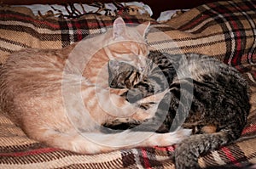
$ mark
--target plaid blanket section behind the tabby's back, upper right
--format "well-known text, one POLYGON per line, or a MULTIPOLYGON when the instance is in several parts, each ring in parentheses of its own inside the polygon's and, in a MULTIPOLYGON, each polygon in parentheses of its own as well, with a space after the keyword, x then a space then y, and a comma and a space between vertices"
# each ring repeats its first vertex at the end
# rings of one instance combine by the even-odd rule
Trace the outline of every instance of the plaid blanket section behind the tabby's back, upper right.
POLYGON ((166 27, 155 26, 171 40, 156 39, 160 33, 154 32, 148 43, 171 54, 211 55, 241 72, 252 73, 255 83, 255 8, 256 3, 248 0, 201 5, 168 21, 166 27))

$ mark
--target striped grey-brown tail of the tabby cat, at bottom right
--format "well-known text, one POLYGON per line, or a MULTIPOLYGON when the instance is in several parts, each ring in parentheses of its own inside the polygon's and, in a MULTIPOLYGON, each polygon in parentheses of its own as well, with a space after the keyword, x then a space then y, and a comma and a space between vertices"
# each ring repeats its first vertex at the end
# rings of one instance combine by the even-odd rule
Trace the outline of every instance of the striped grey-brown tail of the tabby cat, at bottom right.
POLYGON ((174 152, 177 169, 197 169, 198 158, 210 150, 218 149, 225 144, 230 144, 241 135, 241 130, 223 129, 219 132, 192 135, 185 138, 177 145, 174 152), (233 131, 232 131, 233 130, 233 131))

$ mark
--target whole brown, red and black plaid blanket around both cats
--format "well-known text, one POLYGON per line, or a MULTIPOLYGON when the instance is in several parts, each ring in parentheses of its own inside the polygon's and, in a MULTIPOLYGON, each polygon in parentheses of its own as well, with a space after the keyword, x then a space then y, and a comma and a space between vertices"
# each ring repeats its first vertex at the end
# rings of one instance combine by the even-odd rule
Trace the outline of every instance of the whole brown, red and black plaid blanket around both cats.
MULTIPOLYGON (((202 155, 202 168, 241 168, 256 164, 256 2, 235 0, 193 8, 166 24, 145 16, 122 15, 128 23, 153 22, 148 44, 157 50, 212 55, 241 70, 251 84, 252 109, 241 138, 202 155)), ((63 48, 102 32, 114 17, 88 14, 77 19, 38 19, 27 8, 0 8, 0 63, 21 48, 63 48)), ((169 147, 124 149, 79 155, 27 138, 0 113, 0 168, 174 168, 169 147)))

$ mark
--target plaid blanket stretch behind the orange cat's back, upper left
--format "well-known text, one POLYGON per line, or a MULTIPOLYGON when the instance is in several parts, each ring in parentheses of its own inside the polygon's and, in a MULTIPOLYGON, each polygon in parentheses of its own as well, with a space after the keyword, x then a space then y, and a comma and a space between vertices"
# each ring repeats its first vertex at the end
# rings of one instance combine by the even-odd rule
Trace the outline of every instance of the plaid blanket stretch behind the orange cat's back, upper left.
MULTIPOLYGON (((126 23, 154 21, 143 16, 120 14, 126 23)), ((38 19, 20 7, 0 7, 0 63, 8 54, 22 48, 64 48, 84 37, 105 31, 113 25, 114 16, 84 14, 73 20, 61 18, 38 19), (23 12, 25 11, 25 12, 23 12)))

